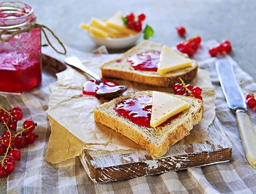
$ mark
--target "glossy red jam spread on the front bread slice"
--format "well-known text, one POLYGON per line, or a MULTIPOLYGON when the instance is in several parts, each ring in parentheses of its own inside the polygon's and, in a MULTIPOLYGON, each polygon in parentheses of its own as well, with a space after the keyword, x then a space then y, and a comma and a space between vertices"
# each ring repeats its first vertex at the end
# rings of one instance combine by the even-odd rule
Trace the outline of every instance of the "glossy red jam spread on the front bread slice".
MULTIPOLYGON (((119 116, 128 119, 140 127, 151 128, 152 96, 150 95, 124 99, 116 104, 114 110, 119 116)), ((159 127, 165 126, 165 124, 177 118, 181 113, 170 117, 168 120, 161 123, 159 127)))

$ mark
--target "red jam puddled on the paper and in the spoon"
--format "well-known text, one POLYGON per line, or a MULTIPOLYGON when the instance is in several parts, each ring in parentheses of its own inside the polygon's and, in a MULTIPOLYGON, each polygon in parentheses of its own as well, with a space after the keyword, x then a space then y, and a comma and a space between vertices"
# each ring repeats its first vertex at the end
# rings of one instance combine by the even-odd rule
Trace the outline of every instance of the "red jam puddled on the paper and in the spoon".
MULTIPOLYGON (((85 95, 95 95, 97 98, 100 96, 97 95, 97 91, 100 90, 100 93, 108 93, 116 91, 118 84, 116 82, 109 81, 102 78, 103 83, 99 84, 95 80, 89 80, 84 83, 83 94, 85 95)), ((101 98, 100 98, 101 99, 101 98)))

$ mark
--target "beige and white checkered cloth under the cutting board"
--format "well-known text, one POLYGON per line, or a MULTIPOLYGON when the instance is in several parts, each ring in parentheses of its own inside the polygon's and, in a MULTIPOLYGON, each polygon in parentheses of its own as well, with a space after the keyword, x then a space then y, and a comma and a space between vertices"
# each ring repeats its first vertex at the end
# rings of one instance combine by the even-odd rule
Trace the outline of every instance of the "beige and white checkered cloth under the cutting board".
MULTIPOLYGON (((43 83, 22 95, 0 95, 1 104, 20 106, 26 118, 38 123, 39 135, 35 144, 21 149, 21 161, 9 175, 8 193, 256 193, 256 170, 247 163, 235 121, 228 109, 215 71, 215 58, 210 58, 207 48, 216 44, 207 41, 196 55, 200 68, 210 72, 217 92, 216 115, 230 137, 233 151, 231 162, 214 164, 200 168, 166 172, 160 175, 139 177, 112 183, 93 183, 87 176, 79 158, 59 163, 45 162, 45 153, 51 133, 45 110, 48 108, 49 84, 56 81, 54 71, 43 72, 43 83)), ((232 60, 232 59, 231 59, 232 60)), ((256 92, 256 84, 246 72, 232 61, 238 80, 251 92, 256 92), (252 91, 253 90, 253 91, 252 91)), ((58 67, 51 67, 52 70, 58 67)), ((256 114, 248 114, 256 128, 256 114)), ((256 140, 255 140, 256 141, 256 140)))

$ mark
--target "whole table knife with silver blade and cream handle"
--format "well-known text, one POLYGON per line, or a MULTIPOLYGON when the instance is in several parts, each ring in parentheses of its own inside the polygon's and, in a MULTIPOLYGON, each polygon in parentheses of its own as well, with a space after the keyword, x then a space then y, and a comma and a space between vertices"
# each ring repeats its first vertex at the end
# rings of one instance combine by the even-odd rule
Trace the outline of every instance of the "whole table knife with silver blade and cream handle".
POLYGON ((228 107, 237 117, 242 147, 247 161, 256 169, 256 130, 247 114, 244 94, 242 94, 237 79, 235 79, 233 66, 228 59, 218 59, 216 70, 228 107))

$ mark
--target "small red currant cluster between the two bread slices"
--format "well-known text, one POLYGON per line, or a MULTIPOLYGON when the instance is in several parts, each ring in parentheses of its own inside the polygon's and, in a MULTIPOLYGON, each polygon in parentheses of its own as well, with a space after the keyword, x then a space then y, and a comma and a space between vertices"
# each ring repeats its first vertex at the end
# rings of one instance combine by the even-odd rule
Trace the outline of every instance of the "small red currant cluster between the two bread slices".
POLYGON ((193 86, 192 84, 185 84, 185 82, 180 78, 181 83, 176 83, 173 86, 173 92, 177 95, 185 95, 185 96, 194 96, 194 98, 198 98, 203 100, 201 93, 202 90, 198 86, 193 86))

